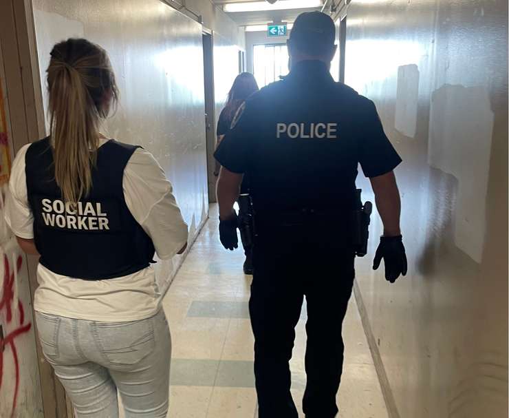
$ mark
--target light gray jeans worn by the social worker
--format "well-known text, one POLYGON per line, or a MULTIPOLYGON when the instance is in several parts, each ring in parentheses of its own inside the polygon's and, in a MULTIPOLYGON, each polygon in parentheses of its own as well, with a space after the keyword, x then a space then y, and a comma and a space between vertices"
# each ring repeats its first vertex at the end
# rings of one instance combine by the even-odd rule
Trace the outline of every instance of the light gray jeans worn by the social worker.
POLYGON ((43 353, 72 401, 76 418, 164 418, 171 338, 161 309, 134 322, 74 320, 36 312, 43 353))

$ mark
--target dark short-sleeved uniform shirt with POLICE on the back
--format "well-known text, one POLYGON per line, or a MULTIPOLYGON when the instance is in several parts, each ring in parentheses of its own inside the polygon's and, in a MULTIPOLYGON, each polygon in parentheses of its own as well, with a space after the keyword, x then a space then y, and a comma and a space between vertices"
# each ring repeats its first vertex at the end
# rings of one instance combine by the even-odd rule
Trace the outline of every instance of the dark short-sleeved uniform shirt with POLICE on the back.
POLYGON ((241 107, 215 158, 247 173, 257 213, 349 211, 360 163, 367 177, 401 158, 372 101, 336 83, 321 61, 301 61, 241 107))

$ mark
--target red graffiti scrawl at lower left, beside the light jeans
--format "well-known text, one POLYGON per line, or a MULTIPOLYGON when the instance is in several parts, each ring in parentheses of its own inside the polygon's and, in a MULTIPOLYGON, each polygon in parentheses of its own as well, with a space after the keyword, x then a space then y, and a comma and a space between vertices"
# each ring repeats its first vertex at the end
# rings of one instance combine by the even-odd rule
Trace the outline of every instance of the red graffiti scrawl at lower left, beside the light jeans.
MULTIPOLYGON (((20 255, 16 260, 16 271, 11 271, 9 259, 7 258, 7 255, 3 255, 3 286, 2 297, 0 299, 0 313, 2 311, 5 313, 7 324, 12 322, 12 304, 15 303, 14 280, 16 280, 16 273, 19 273, 22 264, 23 259, 20 255)), ((28 333, 30 328, 32 328, 32 324, 30 322, 25 324, 25 309, 23 309, 23 304, 21 301, 17 302, 19 311, 19 326, 5 336, 0 334, 0 390, 2 388, 3 380, 3 353, 6 347, 10 347, 10 350, 12 351, 12 359, 14 360, 14 397, 12 399, 11 417, 14 417, 14 410, 16 409, 19 391, 19 358, 16 338, 24 333, 28 333)))

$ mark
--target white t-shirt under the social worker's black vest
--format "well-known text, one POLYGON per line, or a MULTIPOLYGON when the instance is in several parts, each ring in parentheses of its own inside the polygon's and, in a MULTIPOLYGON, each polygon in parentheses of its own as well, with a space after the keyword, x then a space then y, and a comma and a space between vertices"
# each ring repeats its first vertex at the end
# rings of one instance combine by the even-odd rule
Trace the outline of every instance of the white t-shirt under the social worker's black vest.
MULTIPOLYGON (((101 140, 101 145, 107 140, 101 140)), ((25 154, 21 148, 12 165, 5 218, 12 232, 34 238, 34 216, 28 203, 25 154)), ((171 183, 152 154, 138 148, 124 170, 124 197, 129 211, 151 237, 162 260, 172 258, 187 242, 187 224, 182 218, 171 183)), ((63 254, 65 257, 65 254, 63 254)), ((37 268, 39 287, 34 309, 42 313, 82 320, 123 322, 151 317, 160 309, 161 294, 153 267, 109 280, 80 280, 37 268)))

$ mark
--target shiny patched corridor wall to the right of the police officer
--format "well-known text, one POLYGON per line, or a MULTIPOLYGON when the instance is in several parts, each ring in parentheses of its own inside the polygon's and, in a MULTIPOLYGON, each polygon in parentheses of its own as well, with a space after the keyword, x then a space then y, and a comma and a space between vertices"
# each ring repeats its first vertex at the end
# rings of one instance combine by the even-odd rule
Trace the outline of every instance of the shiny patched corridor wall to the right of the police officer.
MULTIPOLYGON (((409 275, 357 262, 391 417, 507 417, 508 3, 362 1, 345 82, 375 101, 404 163, 409 275)), ((364 198, 372 199, 365 180, 364 198)))

